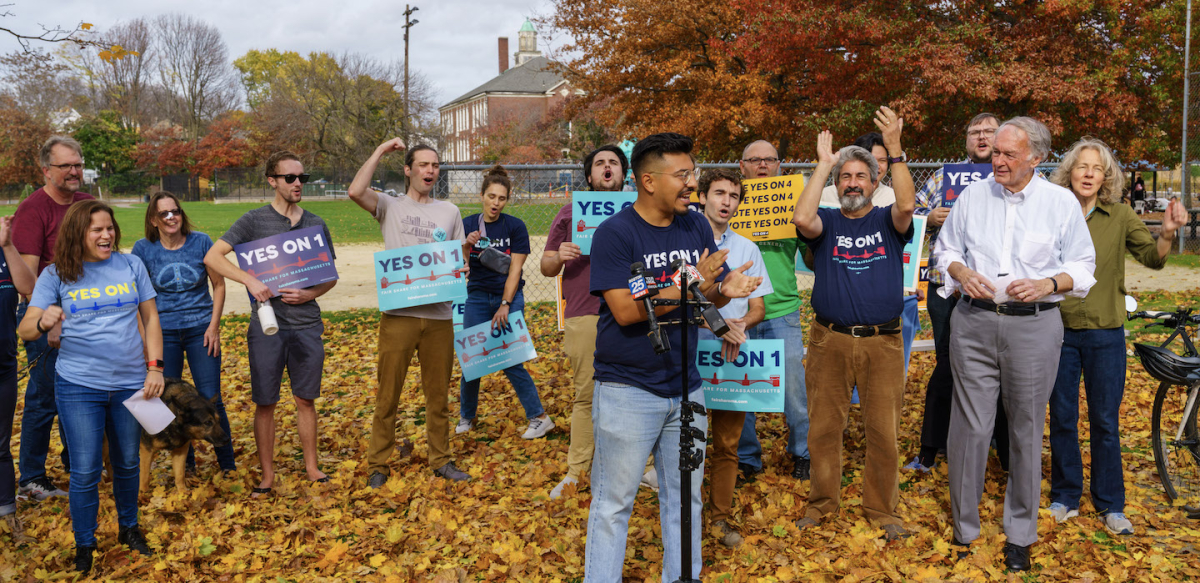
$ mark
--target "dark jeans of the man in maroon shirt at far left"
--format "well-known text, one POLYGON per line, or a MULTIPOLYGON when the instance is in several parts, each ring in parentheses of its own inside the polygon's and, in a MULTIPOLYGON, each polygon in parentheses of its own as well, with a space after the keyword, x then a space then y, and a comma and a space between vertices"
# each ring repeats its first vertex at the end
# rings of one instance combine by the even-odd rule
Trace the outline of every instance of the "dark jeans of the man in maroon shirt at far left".
MULTIPOLYGON (((17 306, 17 321, 25 318, 28 303, 17 306)), ((34 342, 25 343, 25 359, 37 361, 29 369, 29 384, 25 385, 25 409, 20 417, 20 452, 17 468, 20 470, 20 485, 25 486, 38 477, 46 477, 46 457, 50 453, 50 431, 59 408, 54 403, 54 365, 59 360, 59 349, 50 348, 47 335, 34 342)), ((62 469, 71 471, 71 447, 66 433, 59 422, 59 437, 62 439, 62 469)))

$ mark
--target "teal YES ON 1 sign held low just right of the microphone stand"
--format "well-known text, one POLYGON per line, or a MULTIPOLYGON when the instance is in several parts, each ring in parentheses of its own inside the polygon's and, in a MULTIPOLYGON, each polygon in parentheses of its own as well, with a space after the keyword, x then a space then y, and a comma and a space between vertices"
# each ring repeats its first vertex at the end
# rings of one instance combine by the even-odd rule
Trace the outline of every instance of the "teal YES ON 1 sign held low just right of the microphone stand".
POLYGON ((730 362, 721 356, 721 341, 702 339, 696 368, 709 409, 784 413, 784 341, 746 341, 730 362))

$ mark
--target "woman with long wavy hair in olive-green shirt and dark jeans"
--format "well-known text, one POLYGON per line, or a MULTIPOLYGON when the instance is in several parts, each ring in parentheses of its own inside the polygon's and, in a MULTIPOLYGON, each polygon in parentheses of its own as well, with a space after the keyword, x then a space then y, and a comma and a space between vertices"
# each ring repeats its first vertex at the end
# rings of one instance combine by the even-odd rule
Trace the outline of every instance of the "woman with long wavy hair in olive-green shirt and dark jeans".
POLYGON ((1079 453, 1079 377, 1087 391, 1092 446, 1092 505, 1112 534, 1133 534, 1124 516, 1121 463, 1121 399, 1124 395, 1126 252, 1142 265, 1163 269, 1175 232, 1187 222, 1176 202, 1163 216, 1158 241, 1122 204, 1124 180, 1112 152, 1100 140, 1076 142, 1050 176, 1079 199, 1096 247, 1096 286, 1087 297, 1062 302, 1064 333, 1058 378, 1050 393, 1050 513, 1057 522, 1079 516, 1084 463, 1079 453))

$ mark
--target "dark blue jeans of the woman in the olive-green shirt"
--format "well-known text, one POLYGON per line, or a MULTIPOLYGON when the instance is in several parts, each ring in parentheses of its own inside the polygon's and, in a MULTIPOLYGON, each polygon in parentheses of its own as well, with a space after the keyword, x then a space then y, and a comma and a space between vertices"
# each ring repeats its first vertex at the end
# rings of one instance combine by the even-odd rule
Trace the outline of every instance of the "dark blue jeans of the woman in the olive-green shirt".
POLYGON ((1121 327, 1063 331, 1058 378, 1050 393, 1050 501, 1078 509, 1084 493, 1084 462, 1079 455, 1080 372, 1092 429, 1092 504, 1102 516, 1124 512, 1121 398, 1126 345, 1121 327))

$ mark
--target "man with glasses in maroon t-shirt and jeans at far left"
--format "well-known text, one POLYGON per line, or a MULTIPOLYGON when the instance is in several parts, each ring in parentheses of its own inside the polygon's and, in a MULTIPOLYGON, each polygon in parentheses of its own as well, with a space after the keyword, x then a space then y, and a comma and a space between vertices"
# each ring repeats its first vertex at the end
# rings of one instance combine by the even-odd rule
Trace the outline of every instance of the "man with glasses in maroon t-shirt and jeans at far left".
MULTIPOLYGON (((29 269, 41 275, 54 263, 54 242, 59 238, 59 226, 67 209, 78 200, 92 198, 85 192, 76 192, 83 181, 83 150, 79 143, 65 137, 52 136, 38 152, 46 186, 38 188, 17 206, 12 222, 12 241, 29 269)), ((25 317, 28 301, 17 307, 17 321, 25 317)), ((18 494, 35 500, 66 495, 46 475, 46 457, 50 451, 50 429, 58 407, 54 404, 54 365, 59 356, 61 324, 50 333, 25 343, 25 357, 34 362, 25 387, 25 410, 20 421, 20 488, 18 494)), ((59 425, 61 433, 62 426, 59 425)), ((67 440, 62 439, 62 470, 71 471, 67 440)))

